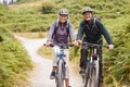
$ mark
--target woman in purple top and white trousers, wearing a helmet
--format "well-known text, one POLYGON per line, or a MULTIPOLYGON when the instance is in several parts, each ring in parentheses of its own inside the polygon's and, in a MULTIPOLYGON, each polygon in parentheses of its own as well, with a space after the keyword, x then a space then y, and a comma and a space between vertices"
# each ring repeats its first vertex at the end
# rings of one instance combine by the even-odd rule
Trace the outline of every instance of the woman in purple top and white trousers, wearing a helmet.
MULTIPOLYGON (((55 78, 55 71, 56 71, 56 62, 57 62, 57 53, 60 51, 58 44, 68 44, 69 41, 69 36, 72 37, 73 44, 77 46, 75 33, 74 33, 74 27, 73 25, 68 22, 68 11, 66 9, 61 9, 58 12, 58 21, 54 22, 51 27, 50 32, 47 38, 47 44, 46 46, 50 46, 50 44, 54 44, 55 46, 53 47, 54 49, 54 58, 53 58, 53 67, 52 67, 52 73, 50 78, 53 79, 55 78)), ((66 76, 65 76, 65 84, 66 87, 69 86, 69 51, 68 48, 64 50, 65 52, 65 62, 66 62, 66 76)))

